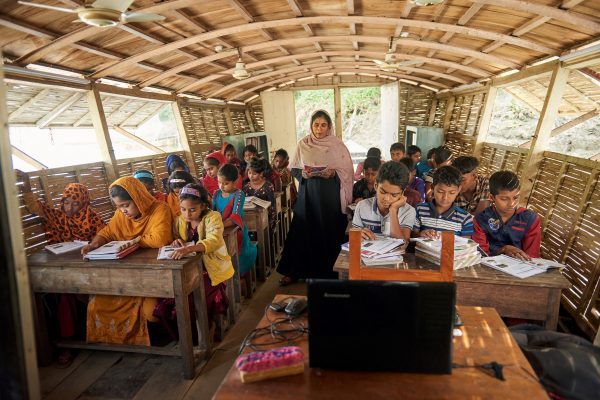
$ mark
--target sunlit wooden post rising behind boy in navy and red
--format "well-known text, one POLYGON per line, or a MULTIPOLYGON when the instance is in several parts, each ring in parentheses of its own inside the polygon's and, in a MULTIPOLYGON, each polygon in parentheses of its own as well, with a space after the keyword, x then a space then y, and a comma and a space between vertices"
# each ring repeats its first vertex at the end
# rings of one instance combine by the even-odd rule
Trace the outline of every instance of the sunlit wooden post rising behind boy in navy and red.
POLYGON ((535 134, 531 140, 531 147, 527 154, 527 164, 523 169, 523 182, 521 183, 521 198, 523 199, 528 199, 531 194, 539 163, 544 156, 544 150, 548 145, 552 129, 554 128, 554 121, 558 115, 558 106, 562 100, 569 72, 570 70, 563 68, 560 63, 552 71, 546 100, 540 113, 540 120, 538 121, 535 134))

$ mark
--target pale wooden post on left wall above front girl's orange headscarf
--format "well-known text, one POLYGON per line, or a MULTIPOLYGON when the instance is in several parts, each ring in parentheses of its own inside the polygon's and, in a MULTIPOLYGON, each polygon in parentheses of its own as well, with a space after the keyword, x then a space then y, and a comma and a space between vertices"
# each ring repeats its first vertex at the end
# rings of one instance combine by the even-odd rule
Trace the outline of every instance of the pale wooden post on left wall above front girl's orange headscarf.
POLYGON ((100 148, 100 154, 102 155, 102 161, 104 162, 106 177, 109 182, 113 182, 118 178, 117 159, 115 157, 115 149, 112 146, 112 140, 110 139, 108 124, 106 123, 106 117, 104 115, 104 107, 102 106, 102 99, 100 98, 100 91, 95 84, 92 84, 91 90, 87 92, 87 102, 90 108, 92 125, 96 132, 98 147, 100 148))

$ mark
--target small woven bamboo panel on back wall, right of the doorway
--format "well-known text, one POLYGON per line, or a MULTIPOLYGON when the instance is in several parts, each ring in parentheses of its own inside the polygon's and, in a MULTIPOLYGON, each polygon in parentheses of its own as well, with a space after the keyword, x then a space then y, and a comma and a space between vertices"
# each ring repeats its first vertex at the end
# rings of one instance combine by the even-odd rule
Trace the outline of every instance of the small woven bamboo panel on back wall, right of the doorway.
POLYGON ((407 126, 427 126, 429 123, 429 111, 434 94, 429 90, 400 84, 398 96, 398 141, 404 143, 407 126))

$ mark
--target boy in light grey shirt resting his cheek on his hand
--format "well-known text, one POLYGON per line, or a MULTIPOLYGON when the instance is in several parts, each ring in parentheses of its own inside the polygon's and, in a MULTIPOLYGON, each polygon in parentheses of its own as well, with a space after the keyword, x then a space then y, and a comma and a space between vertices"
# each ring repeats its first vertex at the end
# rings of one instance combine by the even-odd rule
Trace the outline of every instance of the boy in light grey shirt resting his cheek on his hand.
POLYGON ((415 223, 415 209, 406 203, 403 191, 408 185, 408 169, 388 161, 377 173, 377 194, 356 205, 352 226, 362 228, 363 239, 375 234, 404 239, 405 247, 415 223))

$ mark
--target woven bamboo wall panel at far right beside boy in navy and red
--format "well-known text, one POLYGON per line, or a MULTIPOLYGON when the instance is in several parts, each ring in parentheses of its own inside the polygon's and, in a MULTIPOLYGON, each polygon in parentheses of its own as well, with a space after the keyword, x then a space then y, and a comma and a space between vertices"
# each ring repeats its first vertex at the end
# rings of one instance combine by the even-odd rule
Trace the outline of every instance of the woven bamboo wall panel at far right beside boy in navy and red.
POLYGON ((598 330, 600 185, 598 163, 546 152, 529 207, 543 221, 542 257, 563 262, 572 287, 562 303, 593 337, 598 330))

